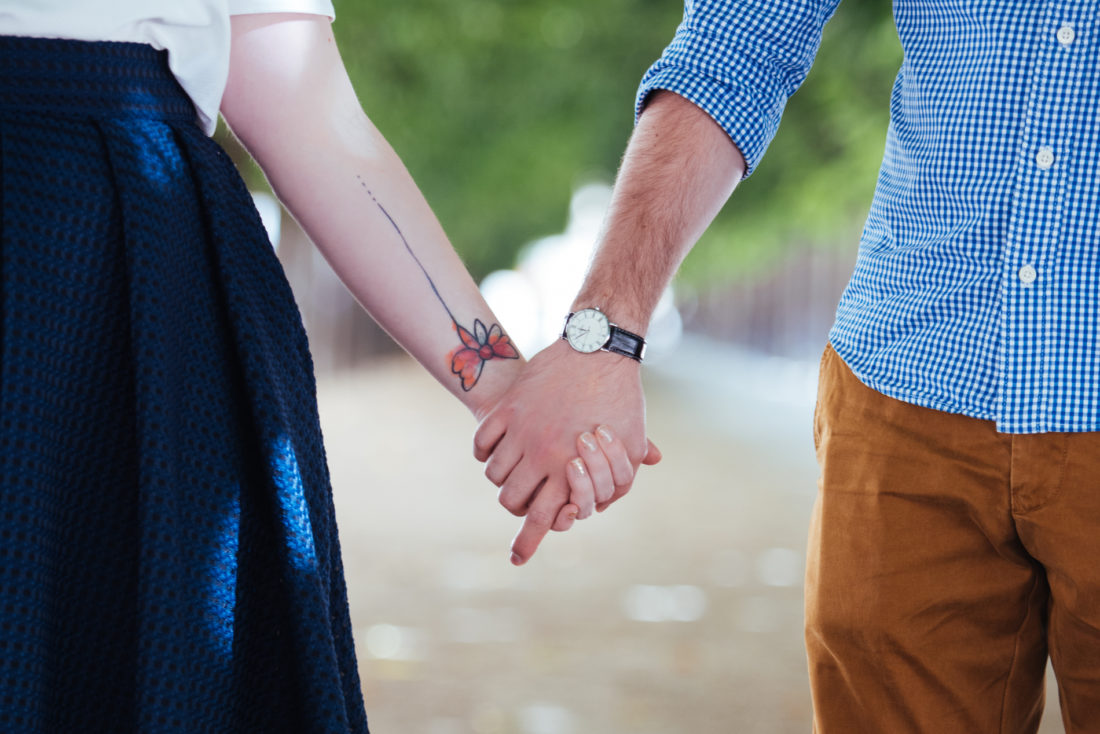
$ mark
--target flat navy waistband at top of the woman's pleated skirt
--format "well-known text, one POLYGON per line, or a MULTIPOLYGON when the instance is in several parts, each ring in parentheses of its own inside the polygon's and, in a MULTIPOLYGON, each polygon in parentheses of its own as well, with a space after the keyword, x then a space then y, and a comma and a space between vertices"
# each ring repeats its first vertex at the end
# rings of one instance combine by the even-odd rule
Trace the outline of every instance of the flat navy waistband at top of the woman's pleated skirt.
POLYGON ((168 54, 140 43, 0 36, 0 116, 196 120, 168 54))

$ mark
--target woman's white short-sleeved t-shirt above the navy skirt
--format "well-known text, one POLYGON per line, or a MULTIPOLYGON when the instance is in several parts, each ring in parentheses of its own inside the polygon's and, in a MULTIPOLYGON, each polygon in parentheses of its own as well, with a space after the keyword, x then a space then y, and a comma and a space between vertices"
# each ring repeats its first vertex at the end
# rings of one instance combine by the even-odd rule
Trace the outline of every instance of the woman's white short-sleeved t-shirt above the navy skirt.
POLYGON ((229 77, 229 17, 248 13, 336 14, 332 0, 3 0, 0 35, 167 50, 172 73, 212 133, 229 77))

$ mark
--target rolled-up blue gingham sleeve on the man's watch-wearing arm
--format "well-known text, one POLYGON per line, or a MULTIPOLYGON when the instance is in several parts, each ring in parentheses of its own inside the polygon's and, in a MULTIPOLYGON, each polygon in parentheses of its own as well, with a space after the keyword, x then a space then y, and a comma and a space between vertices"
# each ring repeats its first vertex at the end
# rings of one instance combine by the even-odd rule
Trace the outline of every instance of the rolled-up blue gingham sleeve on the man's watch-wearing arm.
POLYGON ((779 129, 788 98, 805 79, 839 0, 685 0, 672 43, 641 79, 714 118, 745 156, 748 176, 779 129))

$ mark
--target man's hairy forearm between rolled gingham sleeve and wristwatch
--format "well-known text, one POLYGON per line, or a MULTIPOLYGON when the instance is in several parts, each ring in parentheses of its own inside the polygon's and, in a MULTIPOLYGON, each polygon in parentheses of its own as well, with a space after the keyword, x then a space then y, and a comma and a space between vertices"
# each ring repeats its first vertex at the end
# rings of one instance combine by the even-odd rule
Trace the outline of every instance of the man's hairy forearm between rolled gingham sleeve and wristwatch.
POLYGON ((598 306, 645 333, 664 287, 744 173, 740 151, 710 116, 679 95, 656 92, 623 156, 574 307, 598 306))

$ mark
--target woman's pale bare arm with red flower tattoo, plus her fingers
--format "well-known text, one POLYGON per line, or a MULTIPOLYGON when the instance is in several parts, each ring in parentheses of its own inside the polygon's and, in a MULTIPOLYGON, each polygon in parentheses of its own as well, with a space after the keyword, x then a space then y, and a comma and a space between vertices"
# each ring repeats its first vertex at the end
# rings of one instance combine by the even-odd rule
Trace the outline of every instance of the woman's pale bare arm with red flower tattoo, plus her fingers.
MULTIPOLYGON (((524 360, 493 328, 499 321, 431 208, 363 112, 329 20, 234 15, 221 112, 371 316, 479 419, 490 414, 524 360)), ((572 446, 597 423, 586 420, 554 440, 572 446)), ((581 453, 588 471, 583 462, 571 464, 586 508, 591 497, 613 493, 610 463, 617 472, 629 467, 617 449, 606 448, 609 458, 581 453)), ((562 456, 558 473, 575 458, 575 450, 562 456)), ((561 503, 551 524, 566 529, 580 511, 561 503)))

